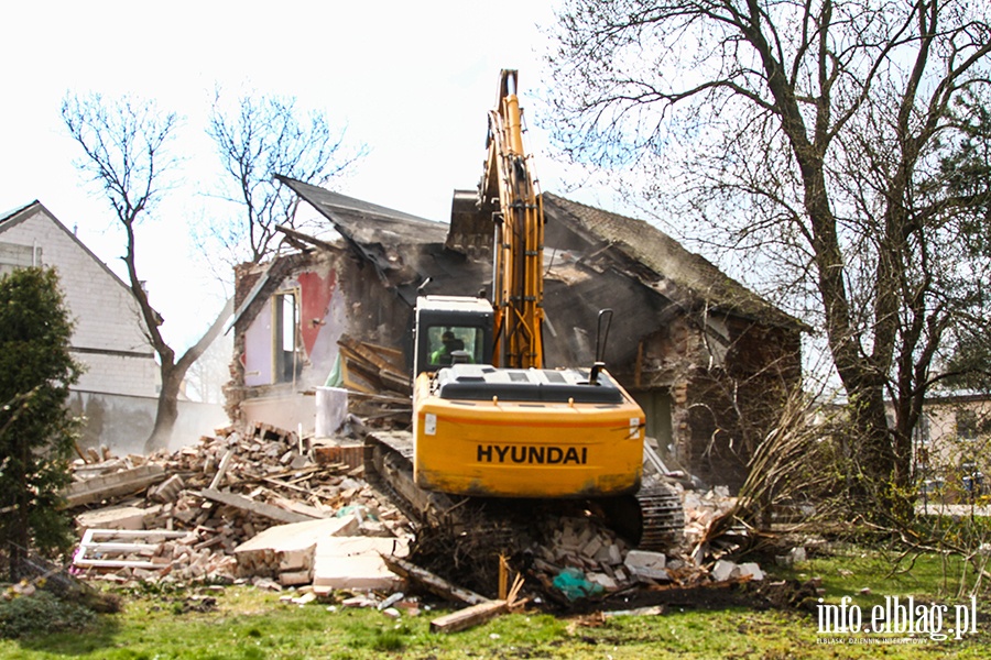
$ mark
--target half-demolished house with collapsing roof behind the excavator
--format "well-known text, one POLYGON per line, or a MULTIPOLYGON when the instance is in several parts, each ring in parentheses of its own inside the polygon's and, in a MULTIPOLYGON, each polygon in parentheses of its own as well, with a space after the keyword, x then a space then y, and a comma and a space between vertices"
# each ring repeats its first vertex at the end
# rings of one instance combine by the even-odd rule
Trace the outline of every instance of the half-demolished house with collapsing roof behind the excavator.
MULTIPOLYGON (((286 229, 295 252, 236 273, 231 419, 320 430, 318 399, 338 385, 409 414, 417 293, 484 294, 484 232, 282 180, 340 238, 286 229)), ((642 220, 547 193, 543 206, 547 365, 591 365, 612 309, 606 362, 668 469, 736 491, 798 383, 803 324, 642 220)))

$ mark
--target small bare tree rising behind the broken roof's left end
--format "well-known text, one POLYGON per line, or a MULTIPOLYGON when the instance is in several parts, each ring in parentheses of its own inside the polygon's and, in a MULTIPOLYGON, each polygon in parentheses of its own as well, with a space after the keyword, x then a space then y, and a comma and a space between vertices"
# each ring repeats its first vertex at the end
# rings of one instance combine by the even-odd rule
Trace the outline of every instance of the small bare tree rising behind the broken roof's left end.
POLYGON ((228 265, 258 263, 273 249, 276 224, 295 227, 298 197, 274 175, 323 186, 367 153, 364 145, 346 146, 346 130, 334 130, 323 113, 304 113, 294 98, 276 96, 241 96, 225 112, 218 90, 207 133, 229 175, 221 197, 241 209, 240 220, 211 229, 228 265))

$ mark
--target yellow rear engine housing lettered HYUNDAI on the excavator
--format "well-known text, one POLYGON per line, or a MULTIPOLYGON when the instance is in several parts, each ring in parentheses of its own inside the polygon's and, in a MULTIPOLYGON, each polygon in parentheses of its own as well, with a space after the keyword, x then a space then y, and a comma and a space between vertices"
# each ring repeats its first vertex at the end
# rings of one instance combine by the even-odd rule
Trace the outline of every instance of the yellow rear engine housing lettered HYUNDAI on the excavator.
POLYGON ((456 364, 422 374, 414 400, 414 480, 498 497, 609 497, 636 492, 640 407, 606 372, 456 364))

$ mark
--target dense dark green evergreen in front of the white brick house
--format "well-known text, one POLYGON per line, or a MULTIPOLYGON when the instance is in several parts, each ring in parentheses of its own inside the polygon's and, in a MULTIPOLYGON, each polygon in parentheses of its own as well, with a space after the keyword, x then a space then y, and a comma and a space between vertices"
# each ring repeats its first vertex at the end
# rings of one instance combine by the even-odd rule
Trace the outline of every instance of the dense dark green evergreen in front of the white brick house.
POLYGON ((78 428, 65 406, 81 373, 72 332, 53 268, 0 277, 0 542, 12 581, 29 548, 52 554, 72 541, 58 506, 78 428))

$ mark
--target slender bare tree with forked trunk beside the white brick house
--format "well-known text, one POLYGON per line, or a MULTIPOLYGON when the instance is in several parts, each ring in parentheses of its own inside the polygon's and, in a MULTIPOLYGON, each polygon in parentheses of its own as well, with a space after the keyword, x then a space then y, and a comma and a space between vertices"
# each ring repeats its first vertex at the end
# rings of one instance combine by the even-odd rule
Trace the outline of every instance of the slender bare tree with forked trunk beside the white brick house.
POLYGON ((203 337, 176 359, 175 350, 162 337, 162 315, 152 307, 139 276, 135 230, 161 201, 168 188, 168 172, 178 165, 168 148, 179 120, 150 101, 129 97, 111 101, 98 94, 66 96, 62 119, 85 154, 77 167, 102 188, 127 237, 122 258, 162 377, 155 426, 145 451, 161 449, 168 446, 178 418, 178 394, 186 372, 224 329, 232 309, 228 300, 203 337))

